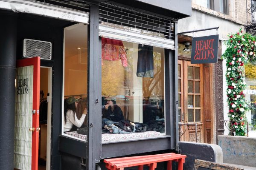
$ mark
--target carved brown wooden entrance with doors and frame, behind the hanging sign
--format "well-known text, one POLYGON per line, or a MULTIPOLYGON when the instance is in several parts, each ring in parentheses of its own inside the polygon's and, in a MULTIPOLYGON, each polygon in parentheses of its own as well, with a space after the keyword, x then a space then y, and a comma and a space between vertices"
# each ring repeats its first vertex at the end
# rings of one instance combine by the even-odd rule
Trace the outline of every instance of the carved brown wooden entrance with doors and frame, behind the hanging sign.
MULTIPOLYGON (((220 47, 220 45, 219 45, 220 47)), ((220 59, 221 47, 218 49, 220 59)), ((192 37, 178 37, 178 97, 180 140, 213 143, 215 121, 214 64, 191 64, 192 37)))

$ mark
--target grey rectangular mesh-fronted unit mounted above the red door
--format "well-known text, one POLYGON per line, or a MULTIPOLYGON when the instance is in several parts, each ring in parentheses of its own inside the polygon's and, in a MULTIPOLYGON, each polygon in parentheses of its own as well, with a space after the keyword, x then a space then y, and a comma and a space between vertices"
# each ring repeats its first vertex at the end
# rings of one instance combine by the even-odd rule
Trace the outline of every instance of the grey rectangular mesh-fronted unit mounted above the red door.
POLYGON ((52 43, 47 41, 24 39, 23 57, 40 57, 41 59, 52 59, 52 43))

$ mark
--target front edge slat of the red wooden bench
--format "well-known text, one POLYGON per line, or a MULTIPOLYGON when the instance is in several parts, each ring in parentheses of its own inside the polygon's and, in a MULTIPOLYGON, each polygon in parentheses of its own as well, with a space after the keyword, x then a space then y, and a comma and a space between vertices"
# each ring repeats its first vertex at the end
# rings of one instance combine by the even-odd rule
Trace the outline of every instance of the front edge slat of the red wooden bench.
MULTIPOLYGON (((134 167, 134 166, 139 166, 142 164, 152 164, 152 163, 157 163, 157 162, 162 162, 162 161, 170 161, 174 159, 185 159, 186 155, 172 155, 172 156, 166 156, 166 157, 161 157, 161 158, 154 158, 154 159, 146 159, 146 160, 131 160, 130 162, 125 162, 125 163, 117 163, 113 164, 114 167, 116 168, 121 168, 121 167, 134 167)), ((182 162, 183 163, 183 162, 182 162)))

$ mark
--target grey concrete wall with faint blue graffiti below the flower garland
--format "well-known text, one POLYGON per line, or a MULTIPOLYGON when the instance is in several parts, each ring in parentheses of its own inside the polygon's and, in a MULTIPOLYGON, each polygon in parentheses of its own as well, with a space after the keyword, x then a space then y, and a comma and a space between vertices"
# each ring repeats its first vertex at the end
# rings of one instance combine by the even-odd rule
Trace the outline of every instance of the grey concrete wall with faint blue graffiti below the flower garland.
POLYGON ((219 135, 218 145, 223 150, 224 163, 256 167, 256 138, 219 135))

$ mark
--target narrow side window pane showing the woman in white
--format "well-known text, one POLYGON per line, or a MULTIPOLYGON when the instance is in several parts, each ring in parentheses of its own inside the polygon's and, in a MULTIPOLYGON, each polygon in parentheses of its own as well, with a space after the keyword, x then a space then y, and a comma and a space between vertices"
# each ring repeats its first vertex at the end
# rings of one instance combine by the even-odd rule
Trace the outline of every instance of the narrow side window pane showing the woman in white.
MULTIPOLYGON (((87 134, 87 25, 64 29, 62 134, 87 134), (79 130, 80 129, 80 130, 79 130)), ((75 137, 76 136, 72 136, 75 137)))

